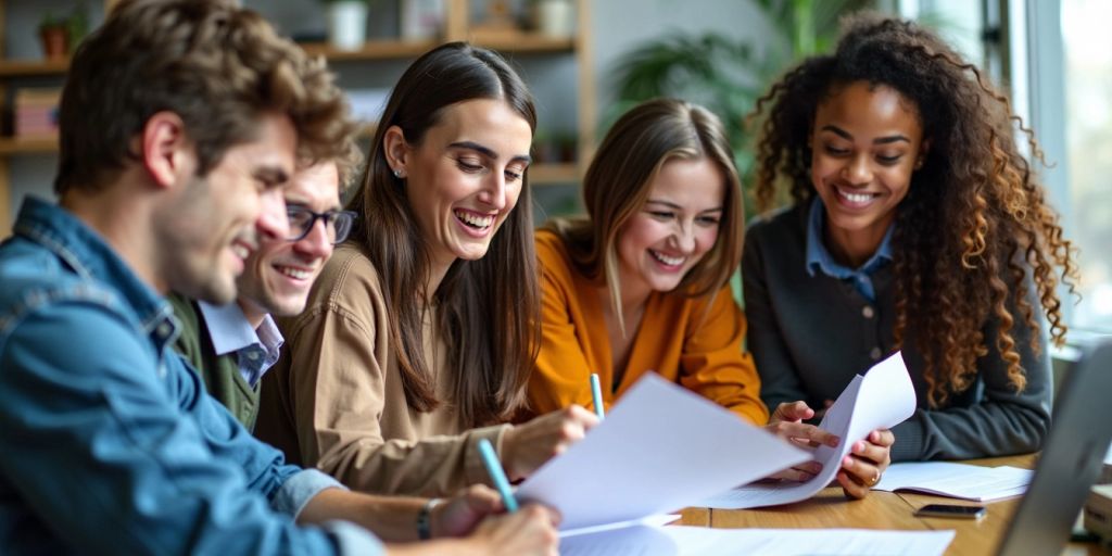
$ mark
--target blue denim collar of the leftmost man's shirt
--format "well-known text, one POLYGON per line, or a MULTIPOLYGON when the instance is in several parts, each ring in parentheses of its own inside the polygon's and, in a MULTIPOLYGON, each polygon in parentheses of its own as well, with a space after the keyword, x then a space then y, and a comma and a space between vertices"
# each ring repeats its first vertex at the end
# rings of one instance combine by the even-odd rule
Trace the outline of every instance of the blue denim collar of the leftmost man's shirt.
POLYGON ((29 196, 13 231, 54 254, 81 278, 113 288, 138 316, 142 332, 152 336, 159 347, 178 337, 180 325, 170 304, 69 210, 29 196))

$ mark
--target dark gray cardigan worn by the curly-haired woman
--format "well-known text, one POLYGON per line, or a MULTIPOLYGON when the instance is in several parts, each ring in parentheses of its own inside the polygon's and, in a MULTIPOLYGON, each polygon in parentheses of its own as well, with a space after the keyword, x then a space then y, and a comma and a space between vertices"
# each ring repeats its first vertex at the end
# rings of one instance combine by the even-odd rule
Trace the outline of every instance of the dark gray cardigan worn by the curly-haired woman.
MULTIPOLYGON (((742 259, 747 346, 761 374, 761 397, 770 410, 784 401, 805 400, 822 408, 835 399, 857 373, 893 351, 895 320, 891 266, 873 275, 876 302, 854 287, 805 268, 807 208, 801 203, 757 220, 745 239, 742 259)), ((1029 280, 1030 280, 1029 272, 1029 280)), ((1027 302, 1040 307, 1033 282, 1027 302)), ((1010 307, 1013 315, 1016 308, 1010 307)), ((914 315, 910 320, 914 322, 914 315)), ((976 379, 967 390, 951 395, 946 406, 926 408, 923 359, 913 346, 903 354, 911 371, 919 409, 893 429, 892 459, 969 459, 1037 450, 1050 428, 1050 356, 1045 326, 1041 354, 1031 350, 1032 331, 1016 319, 1012 329, 1027 385, 1015 393, 1006 365, 996 350, 996 322, 983 331, 989 354, 976 363, 976 379)))

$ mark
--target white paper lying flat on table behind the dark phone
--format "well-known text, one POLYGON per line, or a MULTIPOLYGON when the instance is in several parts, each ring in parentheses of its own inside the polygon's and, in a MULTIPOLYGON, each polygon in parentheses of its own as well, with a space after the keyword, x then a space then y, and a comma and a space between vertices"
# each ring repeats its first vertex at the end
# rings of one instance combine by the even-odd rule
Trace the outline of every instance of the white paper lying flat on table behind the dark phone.
POLYGON ((992 502, 1025 493, 1034 474, 1031 469, 1006 465, 982 467, 949 461, 893 464, 873 490, 916 490, 965 500, 992 502))

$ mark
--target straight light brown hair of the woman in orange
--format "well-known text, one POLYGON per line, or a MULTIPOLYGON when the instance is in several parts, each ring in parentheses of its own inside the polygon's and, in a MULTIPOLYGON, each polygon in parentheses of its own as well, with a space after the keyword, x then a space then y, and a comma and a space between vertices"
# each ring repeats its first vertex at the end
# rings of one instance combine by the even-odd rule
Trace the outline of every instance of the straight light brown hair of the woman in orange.
POLYGON ((713 112, 676 99, 654 99, 622 116, 606 133, 583 181, 588 218, 554 219, 555 231, 589 278, 599 275, 610 291, 614 315, 625 332, 617 242, 625 224, 648 200, 653 180, 669 160, 706 158, 726 178, 722 224, 714 247, 676 287, 678 295, 714 295, 742 258, 745 215, 741 179, 722 121, 713 112))

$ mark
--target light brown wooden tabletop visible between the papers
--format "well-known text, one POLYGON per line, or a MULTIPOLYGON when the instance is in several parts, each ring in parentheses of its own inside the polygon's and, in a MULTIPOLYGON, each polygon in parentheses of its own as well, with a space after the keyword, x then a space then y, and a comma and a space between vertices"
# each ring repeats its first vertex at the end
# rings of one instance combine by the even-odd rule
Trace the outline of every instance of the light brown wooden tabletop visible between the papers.
MULTIPOLYGON (((1033 468, 1034 455, 965 461, 974 465, 1011 465, 1033 468)), ((862 529, 954 529, 956 535, 946 549, 949 556, 991 555, 996 548, 1012 514, 1021 498, 983 504, 987 515, 980 520, 915 517, 914 513, 927 504, 977 505, 939 496, 883 493, 874 490, 864 500, 850 500, 841 487, 823 489, 808 500, 786 506, 757 509, 686 508, 682 525, 738 528, 862 528, 862 529)), ((1091 543, 1070 543, 1063 556, 1112 556, 1112 550, 1091 543)))

